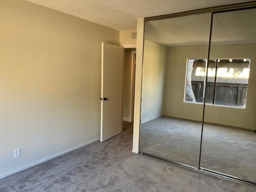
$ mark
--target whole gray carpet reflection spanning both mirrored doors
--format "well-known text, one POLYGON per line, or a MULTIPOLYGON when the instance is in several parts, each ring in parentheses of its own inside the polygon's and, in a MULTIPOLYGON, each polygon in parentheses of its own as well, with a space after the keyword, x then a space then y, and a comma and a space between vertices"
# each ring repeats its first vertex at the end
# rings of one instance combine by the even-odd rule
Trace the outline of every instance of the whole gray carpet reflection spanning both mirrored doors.
MULTIPOLYGON (((141 126, 140 150, 198 167, 200 122, 162 116, 141 126)), ((256 133, 204 124, 201 167, 256 183, 256 133)))

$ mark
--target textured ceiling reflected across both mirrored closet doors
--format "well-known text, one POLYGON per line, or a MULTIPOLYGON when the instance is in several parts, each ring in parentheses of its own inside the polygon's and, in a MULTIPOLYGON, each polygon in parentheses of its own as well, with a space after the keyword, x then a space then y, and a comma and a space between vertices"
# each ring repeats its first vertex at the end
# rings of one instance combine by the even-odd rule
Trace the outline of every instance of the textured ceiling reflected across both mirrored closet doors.
MULTIPOLYGON (((166 46, 207 45, 211 14, 145 23, 145 39, 166 46)), ((256 43, 256 9, 214 14, 211 44, 256 43)))

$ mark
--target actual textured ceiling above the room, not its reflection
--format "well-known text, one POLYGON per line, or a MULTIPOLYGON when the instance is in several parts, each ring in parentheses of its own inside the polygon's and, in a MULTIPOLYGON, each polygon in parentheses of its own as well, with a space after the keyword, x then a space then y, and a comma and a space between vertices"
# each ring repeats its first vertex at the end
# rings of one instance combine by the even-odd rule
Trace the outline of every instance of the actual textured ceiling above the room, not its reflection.
POLYGON ((117 30, 136 29, 136 18, 250 0, 26 0, 117 30))

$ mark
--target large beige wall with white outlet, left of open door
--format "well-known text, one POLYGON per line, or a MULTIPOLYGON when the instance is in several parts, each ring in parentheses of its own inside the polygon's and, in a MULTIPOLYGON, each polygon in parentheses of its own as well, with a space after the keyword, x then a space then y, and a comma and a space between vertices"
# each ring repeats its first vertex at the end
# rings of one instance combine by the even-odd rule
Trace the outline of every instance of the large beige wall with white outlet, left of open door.
POLYGON ((101 42, 119 31, 22 0, 1 0, 0 21, 4 177, 100 138, 101 42))

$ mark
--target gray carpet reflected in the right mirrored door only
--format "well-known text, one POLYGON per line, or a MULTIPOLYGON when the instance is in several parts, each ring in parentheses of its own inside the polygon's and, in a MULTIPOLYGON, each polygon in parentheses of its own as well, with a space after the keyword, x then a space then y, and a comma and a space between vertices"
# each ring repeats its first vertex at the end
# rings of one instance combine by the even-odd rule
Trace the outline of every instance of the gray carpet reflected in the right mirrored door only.
POLYGON ((201 167, 256 183, 256 133, 205 124, 201 167))

